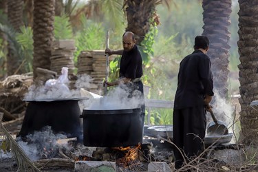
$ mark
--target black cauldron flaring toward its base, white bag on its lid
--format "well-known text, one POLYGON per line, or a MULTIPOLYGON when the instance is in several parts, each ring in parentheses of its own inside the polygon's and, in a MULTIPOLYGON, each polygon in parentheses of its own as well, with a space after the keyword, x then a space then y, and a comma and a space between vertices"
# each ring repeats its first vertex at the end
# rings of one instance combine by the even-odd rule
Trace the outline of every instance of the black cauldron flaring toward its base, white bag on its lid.
POLYGON ((30 101, 17 136, 25 137, 50 126, 54 133, 79 138, 83 133, 80 113, 78 100, 30 101))

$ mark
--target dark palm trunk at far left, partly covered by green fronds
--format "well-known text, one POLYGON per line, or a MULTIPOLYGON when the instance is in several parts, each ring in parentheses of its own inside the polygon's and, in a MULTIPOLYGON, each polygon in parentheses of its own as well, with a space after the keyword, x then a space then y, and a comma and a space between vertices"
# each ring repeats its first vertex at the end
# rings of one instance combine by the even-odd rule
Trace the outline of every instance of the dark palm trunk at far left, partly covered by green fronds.
MULTIPOLYGON (((8 0, 8 21, 15 31, 20 32, 20 27, 23 25, 23 0, 8 0)), ((23 59, 12 53, 12 48, 8 45, 7 74, 24 72, 24 67, 20 67, 22 61, 23 59)))

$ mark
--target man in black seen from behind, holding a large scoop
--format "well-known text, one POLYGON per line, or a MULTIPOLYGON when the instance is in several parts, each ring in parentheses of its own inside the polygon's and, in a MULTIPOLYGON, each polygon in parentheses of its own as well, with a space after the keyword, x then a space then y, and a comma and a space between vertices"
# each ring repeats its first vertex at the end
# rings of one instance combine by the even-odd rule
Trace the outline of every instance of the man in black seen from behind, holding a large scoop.
POLYGON ((208 45, 206 36, 196 36, 194 52, 180 63, 173 110, 175 169, 204 149, 206 111, 211 111, 209 103, 214 95, 208 45))

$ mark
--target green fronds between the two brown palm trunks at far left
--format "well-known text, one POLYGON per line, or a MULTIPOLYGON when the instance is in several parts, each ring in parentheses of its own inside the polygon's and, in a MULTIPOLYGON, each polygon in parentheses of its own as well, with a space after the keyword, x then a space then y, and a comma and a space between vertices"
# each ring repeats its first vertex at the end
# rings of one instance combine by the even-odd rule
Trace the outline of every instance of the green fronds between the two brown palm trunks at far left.
POLYGON ((33 60, 33 33, 30 27, 21 27, 21 33, 18 33, 16 38, 17 42, 21 45, 21 50, 24 54, 25 61, 24 66, 26 72, 32 71, 32 60, 33 60))

